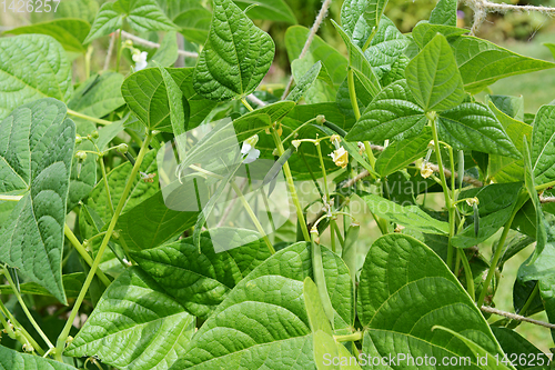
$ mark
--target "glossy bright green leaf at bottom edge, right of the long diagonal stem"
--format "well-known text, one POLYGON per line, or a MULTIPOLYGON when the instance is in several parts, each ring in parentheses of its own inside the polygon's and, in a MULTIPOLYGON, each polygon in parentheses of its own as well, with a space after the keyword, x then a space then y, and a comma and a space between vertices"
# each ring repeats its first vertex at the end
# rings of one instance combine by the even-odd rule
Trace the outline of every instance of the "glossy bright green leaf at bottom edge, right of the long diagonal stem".
POLYGON ((194 317, 138 267, 125 270, 64 351, 118 369, 169 369, 185 353, 194 317))

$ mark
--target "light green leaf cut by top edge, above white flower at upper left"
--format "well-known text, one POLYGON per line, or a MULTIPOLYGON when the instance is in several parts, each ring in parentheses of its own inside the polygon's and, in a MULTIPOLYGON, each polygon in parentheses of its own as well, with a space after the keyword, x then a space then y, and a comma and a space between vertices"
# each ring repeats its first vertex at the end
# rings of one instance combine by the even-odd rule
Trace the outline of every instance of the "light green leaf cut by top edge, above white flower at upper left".
POLYGON ((155 0, 117 0, 100 7, 84 43, 120 29, 124 19, 139 32, 175 29, 175 24, 165 17, 155 0))

